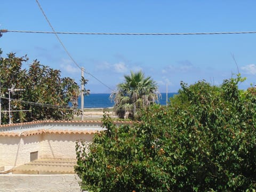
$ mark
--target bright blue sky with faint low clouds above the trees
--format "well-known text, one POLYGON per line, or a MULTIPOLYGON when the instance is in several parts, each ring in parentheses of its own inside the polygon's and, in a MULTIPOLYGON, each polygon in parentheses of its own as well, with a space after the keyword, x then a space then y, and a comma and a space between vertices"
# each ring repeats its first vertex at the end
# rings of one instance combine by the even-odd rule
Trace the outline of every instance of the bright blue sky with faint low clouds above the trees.
MULTIPOLYGON (((38 0, 55 31, 91 33, 206 33, 256 31, 256 1, 38 0)), ((0 29, 52 31, 35 0, 1 0, 0 29)), ((111 93, 124 75, 142 71, 160 92, 180 82, 221 85, 241 73, 240 89, 256 85, 256 34, 117 36, 60 34, 76 63, 85 68, 91 93, 111 93), (237 63, 237 65, 236 65, 237 63), (90 73, 91 75, 89 75, 90 73), (94 77, 96 78, 94 78, 94 77), (97 80, 99 79, 99 81, 97 80), (110 88, 110 89, 109 89, 110 88)), ((81 70, 54 34, 4 33, 2 57, 28 55, 79 82, 81 70)))

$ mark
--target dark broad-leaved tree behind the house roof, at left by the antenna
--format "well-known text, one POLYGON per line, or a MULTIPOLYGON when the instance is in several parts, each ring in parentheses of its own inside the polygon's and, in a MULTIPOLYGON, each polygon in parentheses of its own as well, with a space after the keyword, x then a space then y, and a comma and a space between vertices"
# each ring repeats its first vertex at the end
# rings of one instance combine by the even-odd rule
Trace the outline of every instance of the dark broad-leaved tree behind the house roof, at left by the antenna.
MULTIPOLYGON (((41 65, 34 60, 28 69, 22 68, 22 63, 28 58, 16 57, 15 53, 7 54, 7 58, 0 58, 1 76, 1 104, 2 110, 9 110, 9 100, 12 110, 12 122, 29 122, 42 119, 72 119, 75 110, 70 110, 68 105, 77 106, 79 86, 69 78, 61 78, 60 70, 55 70, 41 65), (24 91, 9 92, 8 89, 24 91), (41 105, 43 103, 43 105, 41 105)), ((87 84, 86 79, 82 83, 87 84)), ((87 91, 85 91, 87 93, 87 91)), ((9 113, 2 113, 2 124, 9 122, 9 113)))

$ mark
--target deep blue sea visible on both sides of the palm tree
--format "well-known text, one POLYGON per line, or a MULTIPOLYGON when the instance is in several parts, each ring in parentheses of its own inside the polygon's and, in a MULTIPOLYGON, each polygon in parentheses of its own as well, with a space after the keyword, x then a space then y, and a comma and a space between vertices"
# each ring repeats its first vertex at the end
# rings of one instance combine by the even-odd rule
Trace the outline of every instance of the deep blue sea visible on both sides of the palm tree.
MULTIPOLYGON (((167 98, 173 97, 177 93, 167 93, 167 98)), ((166 105, 166 93, 161 93, 162 97, 159 99, 161 105, 166 105)), ((84 97, 84 108, 109 108, 114 106, 114 102, 109 99, 108 93, 92 93, 84 97)), ((81 98, 78 98, 78 106, 81 107, 81 98)))

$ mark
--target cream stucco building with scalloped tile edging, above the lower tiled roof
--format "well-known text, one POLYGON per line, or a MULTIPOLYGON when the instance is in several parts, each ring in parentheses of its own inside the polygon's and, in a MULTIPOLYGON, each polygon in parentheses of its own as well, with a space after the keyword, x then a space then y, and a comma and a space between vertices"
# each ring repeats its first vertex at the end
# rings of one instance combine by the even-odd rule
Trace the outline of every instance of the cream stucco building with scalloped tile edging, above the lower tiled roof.
POLYGON ((0 126, 0 167, 40 158, 75 159, 75 142, 90 142, 101 121, 38 121, 0 126))

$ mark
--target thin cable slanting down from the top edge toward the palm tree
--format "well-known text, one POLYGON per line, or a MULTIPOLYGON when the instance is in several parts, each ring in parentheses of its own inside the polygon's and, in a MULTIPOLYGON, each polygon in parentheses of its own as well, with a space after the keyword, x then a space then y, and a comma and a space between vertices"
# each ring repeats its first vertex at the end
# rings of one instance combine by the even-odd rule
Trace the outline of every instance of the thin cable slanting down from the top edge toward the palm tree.
MULTIPOLYGON (((63 49, 66 51, 66 53, 68 54, 69 58, 75 63, 75 65, 82 70, 82 67, 80 67, 77 62, 74 60, 74 58, 71 56, 71 54, 68 52, 68 50, 66 49, 65 45, 62 43, 61 39, 58 36, 58 32, 55 32, 54 28, 51 25, 51 22, 49 21, 49 19, 47 18, 46 14, 44 13, 44 10, 42 8, 42 6, 39 4, 38 0, 36 0, 36 3, 38 4, 39 9, 42 11, 44 18, 46 19, 47 23, 49 24, 49 26, 52 28, 52 34, 55 34, 55 36, 57 37, 58 41, 60 42, 61 46, 63 47, 63 49)), ((1 30, 0 30, 1 31, 1 30)), ((7 30, 8 31, 8 30, 7 30)), ((10 31, 11 32, 11 31, 10 31)), ((113 91, 108 85, 106 85, 105 83, 103 83, 102 81, 100 81, 100 79, 98 79, 97 77, 95 77, 94 75, 92 75, 91 73, 84 71, 84 73, 92 76, 93 78, 95 78, 98 82, 100 82, 102 85, 105 85, 106 87, 108 87, 109 90, 113 91)))

